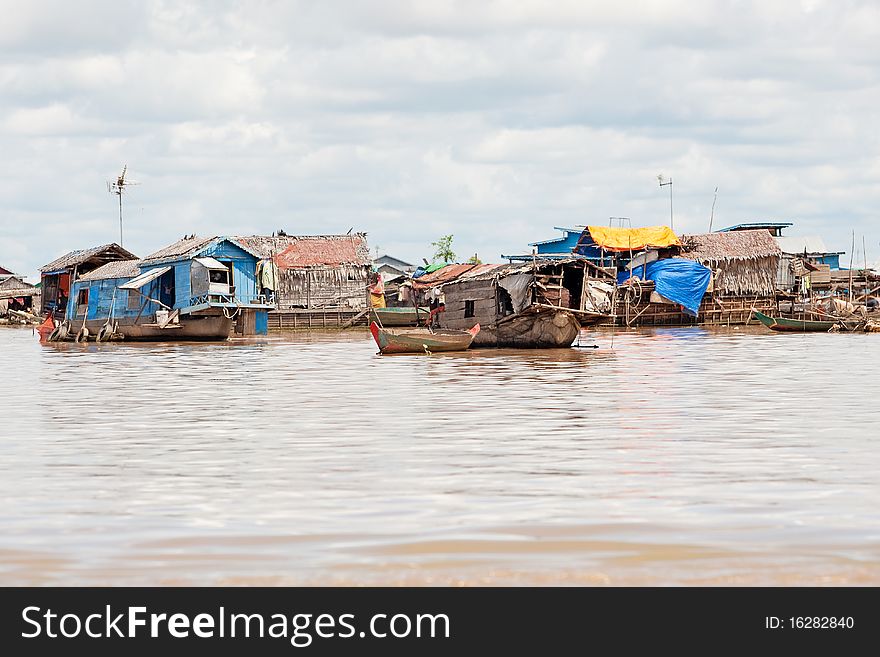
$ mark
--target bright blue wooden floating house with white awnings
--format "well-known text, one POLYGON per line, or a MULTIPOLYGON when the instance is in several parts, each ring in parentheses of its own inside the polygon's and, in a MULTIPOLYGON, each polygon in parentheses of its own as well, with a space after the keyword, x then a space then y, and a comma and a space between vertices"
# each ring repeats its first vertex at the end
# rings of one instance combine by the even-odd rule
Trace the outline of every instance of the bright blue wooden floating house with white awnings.
POLYGON ((109 262, 71 285, 55 337, 225 340, 267 332, 260 258, 230 237, 187 237, 143 260, 109 262))

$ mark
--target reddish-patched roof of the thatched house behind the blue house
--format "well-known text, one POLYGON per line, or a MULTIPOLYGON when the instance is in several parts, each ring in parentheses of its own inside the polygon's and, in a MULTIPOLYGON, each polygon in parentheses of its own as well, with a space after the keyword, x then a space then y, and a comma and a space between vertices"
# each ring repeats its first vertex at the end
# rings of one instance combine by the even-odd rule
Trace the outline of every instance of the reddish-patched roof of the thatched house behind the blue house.
POLYGON ((366 233, 351 235, 239 236, 260 258, 273 258, 280 269, 372 265, 366 233))

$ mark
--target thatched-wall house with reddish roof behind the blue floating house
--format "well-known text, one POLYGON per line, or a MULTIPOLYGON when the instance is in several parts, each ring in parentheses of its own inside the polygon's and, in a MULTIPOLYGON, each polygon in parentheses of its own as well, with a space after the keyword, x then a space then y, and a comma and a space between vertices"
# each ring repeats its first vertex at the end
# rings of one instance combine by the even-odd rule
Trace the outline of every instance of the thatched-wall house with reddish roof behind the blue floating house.
POLYGON ((373 269, 366 233, 237 237, 262 259, 274 262, 278 312, 364 310, 373 269))

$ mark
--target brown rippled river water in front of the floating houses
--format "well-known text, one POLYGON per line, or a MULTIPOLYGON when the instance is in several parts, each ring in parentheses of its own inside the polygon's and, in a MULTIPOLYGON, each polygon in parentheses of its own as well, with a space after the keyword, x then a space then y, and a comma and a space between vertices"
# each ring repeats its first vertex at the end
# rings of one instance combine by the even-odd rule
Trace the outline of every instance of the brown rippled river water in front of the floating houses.
POLYGON ((0 585, 880 584, 878 335, 0 329, 0 585))

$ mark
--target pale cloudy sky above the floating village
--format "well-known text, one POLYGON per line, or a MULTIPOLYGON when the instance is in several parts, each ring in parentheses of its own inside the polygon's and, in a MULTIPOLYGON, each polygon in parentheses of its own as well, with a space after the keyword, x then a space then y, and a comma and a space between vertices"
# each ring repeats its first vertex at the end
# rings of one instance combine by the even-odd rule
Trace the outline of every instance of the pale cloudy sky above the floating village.
POLYGON ((791 221, 880 259, 880 4, 0 0, 0 265, 368 233, 791 221), (718 188, 715 199, 715 188, 718 188))

